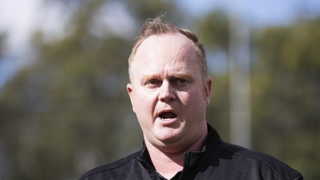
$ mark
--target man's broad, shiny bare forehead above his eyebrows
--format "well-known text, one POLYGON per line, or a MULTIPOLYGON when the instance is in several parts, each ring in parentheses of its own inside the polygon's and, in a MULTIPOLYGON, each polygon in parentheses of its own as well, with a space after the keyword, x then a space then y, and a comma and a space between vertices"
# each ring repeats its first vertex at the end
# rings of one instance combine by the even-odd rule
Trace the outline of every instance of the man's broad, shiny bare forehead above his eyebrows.
POLYGON ((179 33, 152 35, 141 43, 136 52, 134 63, 139 70, 137 72, 135 68, 134 74, 139 73, 141 68, 150 71, 193 71, 199 67, 197 59, 193 42, 188 37, 179 33))

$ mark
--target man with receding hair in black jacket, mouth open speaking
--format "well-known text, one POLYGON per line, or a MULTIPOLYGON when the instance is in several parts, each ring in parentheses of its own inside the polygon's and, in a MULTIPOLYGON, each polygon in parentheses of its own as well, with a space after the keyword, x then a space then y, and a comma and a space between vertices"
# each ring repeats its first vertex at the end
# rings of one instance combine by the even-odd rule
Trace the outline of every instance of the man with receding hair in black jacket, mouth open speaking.
POLYGON ((161 23, 161 16, 147 20, 128 63, 127 90, 144 146, 80 180, 303 179, 269 155, 223 142, 206 123, 211 78, 191 31, 161 23))

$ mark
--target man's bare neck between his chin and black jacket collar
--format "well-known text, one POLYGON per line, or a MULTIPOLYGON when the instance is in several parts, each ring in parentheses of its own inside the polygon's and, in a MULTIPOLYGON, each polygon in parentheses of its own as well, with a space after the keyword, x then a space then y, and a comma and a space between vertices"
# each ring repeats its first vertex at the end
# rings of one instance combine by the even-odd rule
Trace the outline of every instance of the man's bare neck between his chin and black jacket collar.
POLYGON ((208 132, 205 131, 191 146, 176 150, 174 152, 167 152, 153 146, 147 139, 145 139, 146 147, 149 151, 151 161, 158 173, 166 179, 171 179, 177 172, 181 171, 184 166, 184 153, 188 151, 199 151, 203 146, 203 142, 207 137, 208 132))

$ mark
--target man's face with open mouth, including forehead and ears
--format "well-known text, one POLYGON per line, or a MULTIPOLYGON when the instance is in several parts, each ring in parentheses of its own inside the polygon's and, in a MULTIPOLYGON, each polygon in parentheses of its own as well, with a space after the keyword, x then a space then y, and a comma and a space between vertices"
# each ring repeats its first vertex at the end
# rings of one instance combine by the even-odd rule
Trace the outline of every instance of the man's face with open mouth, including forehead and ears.
POLYGON ((203 79, 190 39, 179 33, 148 37, 133 68, 127 90, 145 141, 173 152, 206 133, 211 79, 203 79))

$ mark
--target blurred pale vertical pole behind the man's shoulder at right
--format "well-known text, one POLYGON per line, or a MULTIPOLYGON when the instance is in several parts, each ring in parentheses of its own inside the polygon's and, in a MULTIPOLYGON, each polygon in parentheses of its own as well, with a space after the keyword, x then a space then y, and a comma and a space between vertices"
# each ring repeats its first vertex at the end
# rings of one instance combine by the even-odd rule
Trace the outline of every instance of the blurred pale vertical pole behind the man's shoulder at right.
POLYGON ((228 2, 230 140, 251 148, 250 28, 244 1, 228 2))

